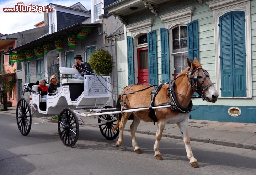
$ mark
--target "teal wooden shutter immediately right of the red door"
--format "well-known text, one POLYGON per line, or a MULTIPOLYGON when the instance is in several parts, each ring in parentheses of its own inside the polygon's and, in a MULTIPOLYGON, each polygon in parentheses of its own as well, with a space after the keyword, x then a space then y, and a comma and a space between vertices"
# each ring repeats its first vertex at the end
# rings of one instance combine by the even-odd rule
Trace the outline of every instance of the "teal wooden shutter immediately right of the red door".
POLYGON ((149 85, 158 84, 157 81, 157 55, 156 55, 156 31, 148 33, 148 63, 149 85))

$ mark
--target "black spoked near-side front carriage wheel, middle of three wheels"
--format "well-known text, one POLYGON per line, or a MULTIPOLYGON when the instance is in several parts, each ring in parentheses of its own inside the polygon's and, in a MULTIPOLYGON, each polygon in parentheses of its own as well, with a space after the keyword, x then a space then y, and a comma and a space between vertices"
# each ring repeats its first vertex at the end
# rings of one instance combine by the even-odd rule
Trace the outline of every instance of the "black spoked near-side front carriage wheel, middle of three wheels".
POLYGON ((65 146, 72 147, 75 145, 79 136, 79 123, 75 113, 71 109, 65 108, 60 112, 58 131, 60 140, 65 146))

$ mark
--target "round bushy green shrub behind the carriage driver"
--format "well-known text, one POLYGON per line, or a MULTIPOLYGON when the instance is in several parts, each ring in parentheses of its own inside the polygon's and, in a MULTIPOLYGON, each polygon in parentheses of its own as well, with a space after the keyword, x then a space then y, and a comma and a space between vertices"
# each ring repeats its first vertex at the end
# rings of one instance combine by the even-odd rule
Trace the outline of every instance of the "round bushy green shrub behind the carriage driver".
POLYGON ((108 75, 112 71, 111 55, 102 48, 91 54, 88 63, 95 74, 108 75))

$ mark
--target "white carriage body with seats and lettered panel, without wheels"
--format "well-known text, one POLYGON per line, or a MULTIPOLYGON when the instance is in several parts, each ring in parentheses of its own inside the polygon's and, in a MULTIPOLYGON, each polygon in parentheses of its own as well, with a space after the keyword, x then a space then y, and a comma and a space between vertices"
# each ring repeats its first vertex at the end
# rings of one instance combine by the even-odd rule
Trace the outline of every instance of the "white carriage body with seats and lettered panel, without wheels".
MULTIPOLYGON (((75 68, 59 67, 60 74, 76 74, 75 68)), ((32 86, 36 92, 39 85, 32 86)), ((53 96, 41 98, 31 92, 32 104, 37 105, 40 114, 59 114, 64 108, 102 108, 106 106, 110 92, 110 76, 85 75, 84 80, 62 79, 62 84, 53 96), (42 107, 43 106, 43 107, 42 107)))

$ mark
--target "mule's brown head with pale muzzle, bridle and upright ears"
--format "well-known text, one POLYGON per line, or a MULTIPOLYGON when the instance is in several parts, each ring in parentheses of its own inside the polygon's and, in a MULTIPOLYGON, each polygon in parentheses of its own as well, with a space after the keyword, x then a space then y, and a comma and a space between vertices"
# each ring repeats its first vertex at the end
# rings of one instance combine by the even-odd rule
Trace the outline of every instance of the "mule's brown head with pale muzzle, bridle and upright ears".
POLYGON ((187 75, 192 90, 201 95, 203 100, 215 103, 219 94, 210 80, 209 73, 202 68, 196 57, 194 58, 194 63, 187 58, 187 64, 190 68, 187 75))

